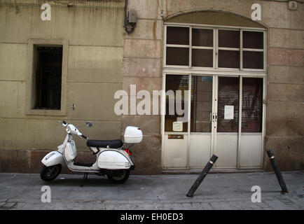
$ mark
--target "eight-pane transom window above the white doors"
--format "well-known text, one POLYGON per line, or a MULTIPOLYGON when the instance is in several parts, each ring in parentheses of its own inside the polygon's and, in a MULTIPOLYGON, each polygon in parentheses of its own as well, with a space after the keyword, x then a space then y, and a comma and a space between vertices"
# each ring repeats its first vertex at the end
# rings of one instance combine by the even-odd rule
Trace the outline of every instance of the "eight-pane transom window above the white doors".
POLYGON ((265 31, 165 25, 164 66, 265 71, 265 31))

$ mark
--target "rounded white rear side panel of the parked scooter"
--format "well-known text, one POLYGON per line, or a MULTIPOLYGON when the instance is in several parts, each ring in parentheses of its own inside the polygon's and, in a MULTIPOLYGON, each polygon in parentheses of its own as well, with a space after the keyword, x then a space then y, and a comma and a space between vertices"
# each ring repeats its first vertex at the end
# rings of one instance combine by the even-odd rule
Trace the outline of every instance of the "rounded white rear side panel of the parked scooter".
POLYGON ((129 169, 130 162, 117 151, 106 150, 99 154, 97 165, 100 169, 129 169))

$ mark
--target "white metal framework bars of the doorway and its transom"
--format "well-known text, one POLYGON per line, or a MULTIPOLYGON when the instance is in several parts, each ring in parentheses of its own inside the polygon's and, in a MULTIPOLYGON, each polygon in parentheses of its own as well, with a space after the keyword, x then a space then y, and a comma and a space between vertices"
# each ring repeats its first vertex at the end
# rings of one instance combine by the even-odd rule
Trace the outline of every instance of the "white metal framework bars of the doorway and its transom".
MULTIPOLYGON (((242 31, 240 31, 240 58, 242 58, 242 31)), ((161 100, 161 135, 162 135, 162 148, 161 148, 161 161, 162 167, 164 168, 164 151, 165 151, 165 81, 166 75, 188 75, 189 76, 189 90, 191 90, 191 78, 192 76, 213 76, 213 101, 212 101, 212 110, 217 113, 217 102, 214 104, 214 99, 217 101, 217 90, 218 90, 218 79, 219 76, 228 76, 228 77, 239 77, 240 78, 240 101, 239 101, 239 132, 237 139, 237 169, 240 169, 240 137, 241 137, 241 127, 242 127, 242 78, 263 78, 263 100, 267 97, 266 86, 267 86, 267 35, 268 30, 263 28, 254 28, 254 27, 235 27, 235 26, 221 26, 221 25, 200 25, 200 24, 185 24, 185 23, 174 23, 174 22, 164 22, 163 24, 163 94, 161 100), (167 39, 167 26, 173 27, 189 27, 189 41, 191 41, 191 29, 192 28, 200 28, 200 29, 214 29, 214 65, 212 68, 205 67, 192 67, 191 66, 191 49, 192 45, 186 45, 189 47, 189 66, 170 66, 166 65, 166 39, 167 39), (240 69, 223 69, 218 68, 216 66, 216 57, 218 57, 216 52, 218 49, 218 31, 219 29, 240 29, 242 31, 261 31, 263 32, 263 69, 243 69, 242 68, 242 59, 240 59, 240 69), (215 98, 216 97, 216 98, 215 98)), ((191 99, 191 92, 189 91, 188 99, 191 99)), ((261 168, 263 168, 263 160, 264 160, 264 139, 265 139, 265 118, 266 118, 266 105, 263 103, 262 106, 263 116, 262 116, 262 147, 261 147, 261 168)), ((187 143, 187 166, 186 169, 189 169, 189 147, 190 147, 190 125, 191 125, 191 100, 188 104, 188 143, 187 143)), ((214 122, 215 128, 212 128, 212 153, 214 153, 214 149, 216 148, 216 132, 217 132, 217 121, 214 122)), ((216 167, 216 166, 214 166, 216 167)))

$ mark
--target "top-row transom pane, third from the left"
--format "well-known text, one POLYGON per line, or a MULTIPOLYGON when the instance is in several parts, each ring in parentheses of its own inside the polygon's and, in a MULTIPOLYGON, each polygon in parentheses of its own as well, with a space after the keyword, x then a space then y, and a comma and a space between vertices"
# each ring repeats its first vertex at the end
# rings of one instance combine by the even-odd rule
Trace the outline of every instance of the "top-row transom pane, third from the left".
POLYGON ((240 48, 240 31, 219 30, 220 48, 240 48))

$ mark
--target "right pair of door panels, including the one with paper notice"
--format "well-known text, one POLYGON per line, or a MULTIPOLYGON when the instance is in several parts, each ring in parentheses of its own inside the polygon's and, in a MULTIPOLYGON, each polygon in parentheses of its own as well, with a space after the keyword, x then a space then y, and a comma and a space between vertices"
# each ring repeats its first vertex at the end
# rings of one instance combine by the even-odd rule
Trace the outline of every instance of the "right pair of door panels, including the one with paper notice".
POLYGON ((214 168, 261 168, 263 78, 218 77, 216 94, 214 168))

